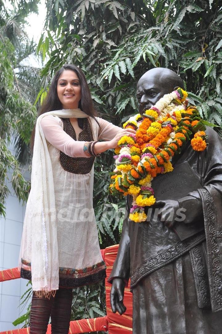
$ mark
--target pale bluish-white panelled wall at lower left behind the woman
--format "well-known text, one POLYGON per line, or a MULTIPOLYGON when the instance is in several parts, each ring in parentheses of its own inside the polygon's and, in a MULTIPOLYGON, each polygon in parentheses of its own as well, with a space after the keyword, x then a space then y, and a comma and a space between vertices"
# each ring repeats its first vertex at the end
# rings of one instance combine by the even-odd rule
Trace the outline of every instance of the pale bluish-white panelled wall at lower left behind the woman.
MULTIPOLYGON (((11 151, 13 152, 13 148, 11 151)), ((11 179, 11 175, 8 173, 9 179, 11 179)), ((26 173, 25 178, 30 178, 28 173, 26 173)), ((8 187, 11 195, 6 202, 6 218, 0 218, 0 270, 18 266, 25 214, 25 206, 19 203, 10 183, 8 183, 8 187)), ((24 279, 15 279, 0 283, 0 331, 22 327, 22 325, 15 327, 12 322, 26 313, 26 309, 22 310, 23 306, 19 306, 19 304, 20 297, 28 289, 27 282, 24 279)))

